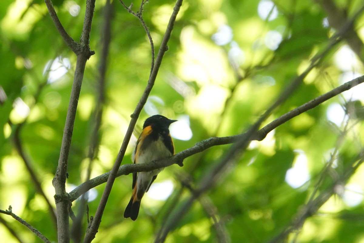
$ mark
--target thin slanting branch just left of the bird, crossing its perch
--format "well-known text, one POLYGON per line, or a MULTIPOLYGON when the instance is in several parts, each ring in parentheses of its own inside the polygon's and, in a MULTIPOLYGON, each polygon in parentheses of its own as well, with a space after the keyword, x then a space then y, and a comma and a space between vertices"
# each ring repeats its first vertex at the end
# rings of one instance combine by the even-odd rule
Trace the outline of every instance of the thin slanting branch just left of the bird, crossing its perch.
POLYGON ((114 166, 112 167, 112 170, 110 172, 110 176, 108 177, 105 190, 103 192, 103 195, 102 195, 100 203, 99 203, 99 207, 97 208, 96 213, 95 213, 94 220, 92 221, 91 225, 89 225, 89 227, 87 228, 86 236, 85 236, 84 241, 83 241, 84 243, 91 242, 92 239, 95 238, 96 232, 98 231, 98 228, 99 228, 100 223, 101 223, 101 217, 102 217, 102 214, 104 212, 108 196, 110 195, 112 185, 114 184, 114 181, 115 181, 119 166, 120 166, 120 164, 121 164, 121 162, 123 160, 123 157, 124 157, 128 142, 130 140, 131 134, 133 132, 134 126, 137 123, 137 119, 139 117, 139 114, 140 114, 143 106, 145 105, 145 103, 147 101, 147 98, 148 98, 148 96, 150 94, 150 91, 152 90, 152 88, 154 86, 155 78, 157 77, 159 67, 161 66, 161 63, 162 63, 163 56, 164 56, 165 52, 168 50, 167 43, 168 43, 169 38, 171 36, 171 32, 173 30, 173 26, 174 26, 177 14, 178 14, 179 9, 181 8, 181 5, 182 5, 182 1, 183 0, 177 0, 175 6, 173 8, 173 13, 172 13, 172 15, 170 17, 170 20, 169 20, 169 23, 167 25, 167 30, 165 32, 165 35, 163 36, 161 47, 159 48, 157 59, 155 61, 155 65, 153 67, 153 70, 151 71, 149 81, 147 83, 147 87, 145 88, 145 91, 144 91, 141 99, 139 100, 138 105, 135 107, 134 113, 131 115, 130 124, 128 126, 127 131, 126 131, 123 143, 122 143, 122 145, 120 147, 118 156, 116 157, 114 166))

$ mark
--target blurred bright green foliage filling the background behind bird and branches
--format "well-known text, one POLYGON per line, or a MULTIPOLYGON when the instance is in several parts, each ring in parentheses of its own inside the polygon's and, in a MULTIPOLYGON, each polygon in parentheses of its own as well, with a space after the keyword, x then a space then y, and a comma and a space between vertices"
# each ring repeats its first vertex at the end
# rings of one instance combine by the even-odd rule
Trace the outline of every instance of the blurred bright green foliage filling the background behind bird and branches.
MULTIPOLYGON (((79 40, 86 1, 52 2, 70 36, 79 40)), ((79 98, 68 163, 68 191, 86 179, 93 110, 98 102, 105 2, 96 1, 92 21, 90 46, 95 55, 87 62, 79 98)), ((349 16, 361 7, 360 2, 334 1, 349 16)), ((277 0, 274 3, 276 5, 270 0, 185 0, 135 136, 143 121, 155 112, 180 119, 185 126, 176 123, 172 133, 178 153, 211 136, 242 133, 255 122, 292 79, 308 67, 310 58, 328 45, 335 32, 326 24, 327 12, 317 1, 277 0), (186 137, 189 129, 191 138, 178 139, 182 135, 186 137)), ((131 1, 126 0, 125 4, 129 6, 131 1)), ((133 2, 132 9, 138 11, 139 4, 133 2)), ((174 2, 165 0, 145 4, 143 18, 156 52, 173 6, 174 2)), ((150 44, 141 23, 119 1, 112 1, 112 7, 106 101, 91 177, 111 169, 130 114, 150 73, 150 44)), ((360 37, 364 33, 363 23, 361 15, 354 24, 360 37)), ((21 124, 24 152, 54 205, 52 178, 58 164, 76 57, 56 31, 41 0, 2 2, 0 56, 0 91, 6 94, 5 99, 0 92, 0 209, 12 205, 14 213, 51 242, 56 242, 49 209, 36 192, 13 138, 21 124), (56 59, 61 63, 57 65, 56 59)), ((360 58, 345 42, 340 42, 263 125, 361 73, 360 58), (340 56, 337 50, 346 51, 346 56, 340 56)), ((363 94, 361 86, 354 88, 359 94, 363 94)), ((206 193, 231 242, 273 239, 292 222, 315 188, 318 193, 323 192, 348 168, 363 145, 364 134, 360 133, 363 131, 363 101, 362 95, 340 95, 282 124, 265 140, 250 144, 244 156, 206 193), (352 101, 346 103, 350 97, 352 101), (345 112, 350 114, 349 120, 344 118, 345 112), (320 171, 335 148, 338 152, 330 173, 325 174, 323 183, 316 187, 322 177, 320 171), (289 175, 296 179, 297 186, 288 183, 289 175)), ((123 164, 131 163, 135 140, 133 137, 123 164)), ((181 179, 189 178, 194 186, 229 147, 213 147, 186 158, 182 168, 175 165, 166 168, 155 183, 170 181, 173 192, 166 200, 153 199, 147 193, 135 222, 123 217, 131 195, 131 175, 117 178, 93 242, 152 242, 170 207, 179 208, 190 195, 189 190, 182 187, 181 179)), ((363 242, 363 176, 361 166, 349 179, 347 187, 344 183, 343 193, 332 196, 289 239, 363 242), (350 192, 354 192, 353 197, 350 192)), ((94 215, 103 189, 104 185, 93 189, 95 199, 88 203, 90 215, 94 215)), ((79 201, 73 202, 75 213, 78 213, 78 204, 79 201)), ((8 227, 24 242, 41 242, 11 217, 0 217, 7 222, 7 227, 0 225, 3 242, 17 242, 8 227)), ((86 222, 83 230, 86 230, 86 222)), ((166 240, 217 241, 213 220, 199 201, 180 219, 166 240)))

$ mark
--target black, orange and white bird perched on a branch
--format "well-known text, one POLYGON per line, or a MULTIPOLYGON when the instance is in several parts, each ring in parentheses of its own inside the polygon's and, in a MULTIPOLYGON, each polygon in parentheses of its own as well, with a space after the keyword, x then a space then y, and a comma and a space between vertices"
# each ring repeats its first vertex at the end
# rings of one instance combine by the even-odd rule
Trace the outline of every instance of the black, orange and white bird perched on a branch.
MULTIPOLYGON (((149 163, 174 155, 174 144, 169 133, 169 126, 176 121, 168 119, 163 115, 153 115, 145 120, 143 131, 131 155, 131 160, 134 164, 149 163)), ((149 190, 158 173, 163 169, 132 173, 133 192, 124 212, 125 218, 130 217, 134 221, 137 219, 142 197, 149 190)))

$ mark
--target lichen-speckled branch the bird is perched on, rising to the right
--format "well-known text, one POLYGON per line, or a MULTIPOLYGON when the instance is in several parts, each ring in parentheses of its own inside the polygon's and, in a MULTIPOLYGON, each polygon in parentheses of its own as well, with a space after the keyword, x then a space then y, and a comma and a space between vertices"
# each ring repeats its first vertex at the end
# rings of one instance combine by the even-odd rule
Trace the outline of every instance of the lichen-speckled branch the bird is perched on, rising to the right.
MULTIPOLYGON (((336 89, 333 89, 329 91, 326 94, 323 94, 304 105, 301 105, 297 107, 296 109, 293 109, 289 111, 288 113, 282 115, 281 117, 275 119, 274 121, 270 122, 268 125, 266 125, 264 128, 258 130, 255 134, 252 140, 263 140, 266 135, 271 132, 273 129, 277 128, 278 126, 284 124, 286 121, 289 121, 293 117, 296 117, 299 114, 302 114, 310 109, 313 109, 314 107, 320 105, 321 103, 327 101, 328 99, 334 97, 337 94, 340 94, 346 90, 351 89, 352 87, 355 87, 356 85, 359 85, 364 82, 364 76, 361 76, 359 78, 353 79, 352 81, 349 81, 347 83, 344 83, 343 85, 337 87, 336 89)), ((167 167, 173 164, 179 164, 187 157, 190 157, 193 154, 202 152, 203 150, 206 150, 208 148, 211 148, 212 146, 217 145, 224 145, 224 144, 232 144, 234 142, 237 142, 239 139, 242 139, 246 137, 246 133, 229 136, 229 137, 211 137, 207 138, 206 140, 202 140, 200 142, 197 142, 194 146, 192 146, 189 149, 183 150, 182 152, 179 152, 178 154, 175 154, 174 156, 162 159, 158 161, 153 161, 148 164, 126 164, 120 166, 118 169, 118 172, 116 176, 121 175, 128 175, 133 172, 142 172, 142 171, 152 171, 154 169, 159 169, 162 167, 167 167)), ((76 187, 73 191, 69 193, 71 201, 76 200, 79 196, 81 196, 83 193, 87 192, 91 188, 94 188, 100 184, 103 184, 107 181, 109 175, 111 172, 104 173, 103 175, 97 176, 94 179, 91 179, 87 183, 83 183, 76 187)))

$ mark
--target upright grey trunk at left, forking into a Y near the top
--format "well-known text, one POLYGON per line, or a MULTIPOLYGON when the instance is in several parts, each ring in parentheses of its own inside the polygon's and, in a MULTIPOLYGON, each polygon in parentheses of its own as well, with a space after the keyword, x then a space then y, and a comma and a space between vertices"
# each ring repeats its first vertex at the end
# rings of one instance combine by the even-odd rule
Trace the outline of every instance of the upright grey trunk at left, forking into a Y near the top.
POLYGON ((64 125, 62 145, 59 155, 58 167, 56 174, 53 178, 53 186, 55 188, 55 201, 56 201, 56 212, 57 212, 57 232, 58 232, 58 243, 69 243, 70 242, 70 230, 69 230, 69 211, 71 207, 71 201, 66 192, 66 179, 68 177, 68 155, 70 153, 70 146, 72 140, 73 127, 75 123, 76 110, 78 105, 78 98, 81 91, 81 85, 83 80, 83 74, 87 60, 91 55, 94 54, 90 50, 88 43, 90 42, 90 31, 92 17, 94 16, 95 0, 86 1, 86 11, 81 35, 81 42, 76 45, 69 44, 71 38, 68 38, 68 34, 60 24, 60 21, 54 11, 50 0, 45 0, 50 15, 60 32, 60 35, 66 41, 68 46, 77 55, 77 62, 75 68, 74 81, 72 84, 70 103, 68 105, 66 123, 64 125), (67 36, 65 35, 67 34, 67 36))

